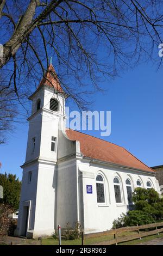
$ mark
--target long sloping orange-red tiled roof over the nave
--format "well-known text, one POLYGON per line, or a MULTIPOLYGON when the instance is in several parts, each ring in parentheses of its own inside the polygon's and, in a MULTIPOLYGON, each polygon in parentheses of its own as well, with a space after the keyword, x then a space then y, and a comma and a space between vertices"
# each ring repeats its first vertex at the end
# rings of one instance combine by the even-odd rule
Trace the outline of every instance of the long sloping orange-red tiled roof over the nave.
POLYGON ((85 157, 155 173, 129 151, 116 144, 70 129, 66 133, 72 141, 80 142, 80 151, 85 157))

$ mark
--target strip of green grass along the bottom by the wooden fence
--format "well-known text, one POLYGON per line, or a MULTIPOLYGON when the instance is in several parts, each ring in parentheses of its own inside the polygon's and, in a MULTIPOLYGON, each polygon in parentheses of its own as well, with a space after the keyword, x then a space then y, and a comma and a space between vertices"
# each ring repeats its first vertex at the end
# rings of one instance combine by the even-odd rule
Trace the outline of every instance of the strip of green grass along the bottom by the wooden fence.
MULTIPOLYGON (((128 236, 128 235, 133 235, 136 232, 124 232, 120 236, 128 236)), ((159 237, 163 237, 163 233, 158 235, 151 235, 151 236, 146 236, 142 238, 142 240, 136 239, 133 241, 129 242, 123 242, 123 243, 118 243, 118 245, 138 245, 139 243, 147 242, 159 237)), ((100 237, 94 237, 94 238, 87 238, 84 240, 84 245, 96 245, 99 242, 104 242, 113 239, 114 236, 109 235, 109 236, 100 236, 100 237)), ((42 238, 42 245, 58 245, 58 240, 54 240, 52 236, 42 238)), ((61 240, 61 245, 82 245, 82 240, 81 239, 75 239, 75 240, 61 240)))

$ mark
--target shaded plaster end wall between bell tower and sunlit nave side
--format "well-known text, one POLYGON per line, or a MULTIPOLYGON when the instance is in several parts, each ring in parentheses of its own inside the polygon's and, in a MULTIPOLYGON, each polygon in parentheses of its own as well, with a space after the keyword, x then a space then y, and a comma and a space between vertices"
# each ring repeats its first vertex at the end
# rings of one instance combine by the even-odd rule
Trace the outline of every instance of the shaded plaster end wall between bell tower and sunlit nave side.
POLYGON ((77 165, 76 160, 58 164, 57 179, 57 225, 64 228, 78 220, 77 165))

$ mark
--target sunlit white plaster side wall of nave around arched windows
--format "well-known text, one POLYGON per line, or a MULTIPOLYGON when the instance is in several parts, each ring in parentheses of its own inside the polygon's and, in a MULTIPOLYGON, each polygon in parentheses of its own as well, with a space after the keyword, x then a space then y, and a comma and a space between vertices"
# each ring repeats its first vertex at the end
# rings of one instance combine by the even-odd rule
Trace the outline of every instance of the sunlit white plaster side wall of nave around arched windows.
MULTIPOLYGON (((126 179, 132 182, 133 189, 136 187, 137 179, 142 181, 146 188, 146 182, 151 181, 153 188, 157 190, 154 175, 137 170, 120 169, 117 167, 104 167, 102 165, 78 161, 79 170, 83 173, 83 204, 84 204, 84 229, 85 233, 109 230, 112 228, 112 222, 120 217, 122 212, 127 211, 127 190, 126 179), (96 176, 101 173, 105 181, 105 204, 97 203, 96 195, 96 176), (118 176, 121 180, 122 203, 116 204, 114 192, 114 177, 118 176), (86 193, 86 185, 92 185, 92 194, 86 193)), ((80 202, 82 203, 82 202, 80 202)))

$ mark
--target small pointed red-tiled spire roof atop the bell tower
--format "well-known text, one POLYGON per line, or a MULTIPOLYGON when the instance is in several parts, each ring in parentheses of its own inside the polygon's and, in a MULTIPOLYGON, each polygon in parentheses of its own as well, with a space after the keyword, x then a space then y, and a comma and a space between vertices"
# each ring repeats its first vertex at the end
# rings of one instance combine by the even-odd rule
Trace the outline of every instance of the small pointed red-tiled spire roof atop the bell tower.
POLYGON ((42 87, 44 84, 46 84, 46 86, 54 88, 57 92, 64 93, 52 64, 49 64, 45 77, 42 78, 37 89, 42 87))

